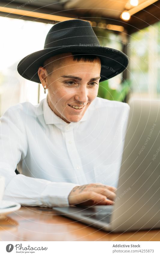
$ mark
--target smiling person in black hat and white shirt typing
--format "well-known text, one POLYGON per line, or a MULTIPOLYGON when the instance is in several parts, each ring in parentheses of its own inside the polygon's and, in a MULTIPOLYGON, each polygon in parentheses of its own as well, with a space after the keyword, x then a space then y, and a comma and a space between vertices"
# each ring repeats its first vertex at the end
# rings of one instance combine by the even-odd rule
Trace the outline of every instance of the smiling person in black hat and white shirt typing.
POLYGON ((99 81, 127 66, 128 57, 100 46, 82 20, 55 24, 44 49, 19 62, 19 74, 48 93, 36 106, 17 104, 1 117, 4 200, 40 207, 114 203, 129 106, 97 95, 99 81))

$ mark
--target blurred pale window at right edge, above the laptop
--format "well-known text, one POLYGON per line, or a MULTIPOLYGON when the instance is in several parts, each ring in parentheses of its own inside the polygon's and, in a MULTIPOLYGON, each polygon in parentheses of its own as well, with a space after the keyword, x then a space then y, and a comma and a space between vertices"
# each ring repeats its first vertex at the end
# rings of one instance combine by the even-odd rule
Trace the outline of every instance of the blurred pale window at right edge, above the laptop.
POLYGON ((160 92, 160 22, 130 36, 132 96, 158 98, 160 92))

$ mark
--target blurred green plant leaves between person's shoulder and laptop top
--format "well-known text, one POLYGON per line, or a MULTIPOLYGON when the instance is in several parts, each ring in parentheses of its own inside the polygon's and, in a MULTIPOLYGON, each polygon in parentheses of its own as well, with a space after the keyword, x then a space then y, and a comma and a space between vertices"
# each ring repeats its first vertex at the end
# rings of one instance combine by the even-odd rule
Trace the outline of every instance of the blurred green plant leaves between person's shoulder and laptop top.
POLYGON ((124 102, 125 97, 130 91, 129 80, 126 80, 126 83, 121 83, 118 85, 118 88, 113 89, 110 87, 108 80, 99 83, 98 89, 98 97, 107 99, 107 100, 115 100, 124 102))

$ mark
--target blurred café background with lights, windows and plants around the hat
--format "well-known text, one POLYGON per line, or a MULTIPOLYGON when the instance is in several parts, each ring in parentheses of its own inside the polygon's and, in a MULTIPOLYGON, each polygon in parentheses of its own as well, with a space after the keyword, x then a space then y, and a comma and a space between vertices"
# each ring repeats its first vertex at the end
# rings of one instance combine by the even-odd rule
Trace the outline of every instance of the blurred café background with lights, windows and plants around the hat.
POLYGON ((101 82, 98 97, 128 102, 130 97, 159 99, 160 1, 15 0, 0 1, 0 116, 25 101, 36 105, 42 85, 17 72, 18 62, 41 50, 50 28, 59 21, 91 22, 102 46, 121 50, 128 68, 101 82))

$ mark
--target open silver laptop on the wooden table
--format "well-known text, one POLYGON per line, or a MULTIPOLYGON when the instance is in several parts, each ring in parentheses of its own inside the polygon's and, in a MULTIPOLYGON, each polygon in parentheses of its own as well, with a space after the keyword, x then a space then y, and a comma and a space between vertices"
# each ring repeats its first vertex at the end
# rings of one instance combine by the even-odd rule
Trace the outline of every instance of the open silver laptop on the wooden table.
POLYGON ((53 207, 112 232, 160 228, 160 101, 132 99, 113 206, 53 207))

